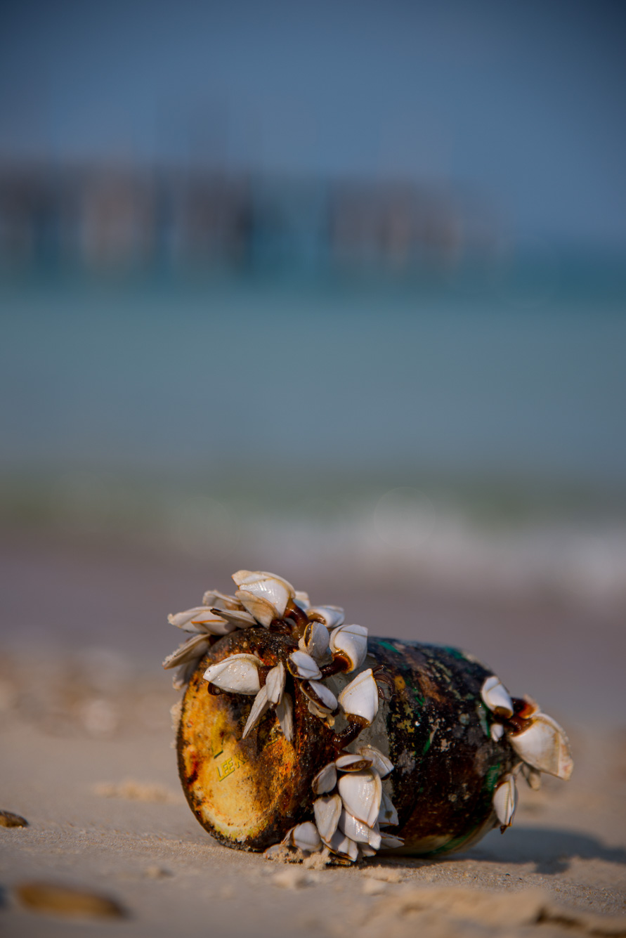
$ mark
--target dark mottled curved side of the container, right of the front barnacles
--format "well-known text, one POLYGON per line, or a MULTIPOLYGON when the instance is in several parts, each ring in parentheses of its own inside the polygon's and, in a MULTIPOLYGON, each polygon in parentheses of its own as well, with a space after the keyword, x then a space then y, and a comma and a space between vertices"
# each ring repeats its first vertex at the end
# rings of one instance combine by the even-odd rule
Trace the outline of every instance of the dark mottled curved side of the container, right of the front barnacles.
POLYGON ((491 739, 481 685, 491 673, 456 648, 371 639, 370 654, 393 677, 384 707, 389 784, 400 853, 448 853, 496 825, 497 780, 519 762, 491 739))

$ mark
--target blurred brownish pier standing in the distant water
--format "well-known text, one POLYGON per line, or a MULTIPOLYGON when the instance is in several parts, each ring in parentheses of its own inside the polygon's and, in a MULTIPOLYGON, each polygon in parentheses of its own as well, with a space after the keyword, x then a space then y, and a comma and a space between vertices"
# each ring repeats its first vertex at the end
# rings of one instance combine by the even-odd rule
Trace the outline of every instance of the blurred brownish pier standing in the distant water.
POLYGON ((449 186, 210 166, 0 164, 0 270, 403 274, 490 258, 496 216, 449 186))

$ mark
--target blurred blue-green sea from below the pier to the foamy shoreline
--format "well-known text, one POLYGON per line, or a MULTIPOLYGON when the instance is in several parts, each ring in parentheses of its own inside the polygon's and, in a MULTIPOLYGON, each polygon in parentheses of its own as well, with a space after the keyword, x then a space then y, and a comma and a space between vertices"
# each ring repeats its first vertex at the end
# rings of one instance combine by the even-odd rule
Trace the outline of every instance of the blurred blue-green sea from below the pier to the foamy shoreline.
POLYGON ((6 282, 2 512, 621 602, 626 294, 544 286, 6 282))

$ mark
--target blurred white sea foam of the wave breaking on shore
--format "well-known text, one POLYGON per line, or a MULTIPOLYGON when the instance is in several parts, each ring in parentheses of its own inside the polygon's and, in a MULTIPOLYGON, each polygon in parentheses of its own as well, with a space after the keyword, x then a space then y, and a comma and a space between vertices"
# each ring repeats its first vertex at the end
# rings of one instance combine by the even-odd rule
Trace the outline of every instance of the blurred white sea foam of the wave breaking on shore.
POLYGON ((388 524, 380 536, 374 512, 310 529, 305 522, 257 519, 245 539, 254 552, 284 558, 290 569, 413 580, 471 594, 536 595, 626 605, 626 527, 537 522, 488 529, 441 509, 435 526, 388 524))

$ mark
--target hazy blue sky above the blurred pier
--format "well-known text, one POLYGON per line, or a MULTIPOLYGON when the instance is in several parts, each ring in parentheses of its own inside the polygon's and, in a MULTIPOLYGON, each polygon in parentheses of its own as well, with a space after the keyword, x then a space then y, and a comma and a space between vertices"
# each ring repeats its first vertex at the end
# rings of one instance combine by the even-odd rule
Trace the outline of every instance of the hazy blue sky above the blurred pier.
POLYGON ((0 151, 426 179, 626 247, 618 2, 4 0, 0 151))

